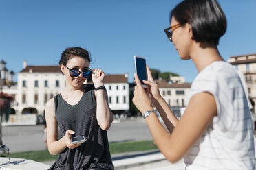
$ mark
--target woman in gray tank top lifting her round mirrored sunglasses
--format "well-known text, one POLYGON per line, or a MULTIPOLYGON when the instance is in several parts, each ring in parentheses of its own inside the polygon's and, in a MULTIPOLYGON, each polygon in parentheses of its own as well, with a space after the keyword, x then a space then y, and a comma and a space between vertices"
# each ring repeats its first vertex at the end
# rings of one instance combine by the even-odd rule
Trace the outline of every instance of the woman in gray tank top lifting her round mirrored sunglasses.
POLYGON ((61 72, 66 77, 63 92, 47 101, 47 145, 58 159, 50 169, 113 169, 107 139, 113 114, 103 84, 105 73, 90 69, 89 53, 80 47, 61 54, 61 72), (92 76, 94 84, 83 84, 92 76), (71 144, 74 136, 85 136, 83 143, 71 144))

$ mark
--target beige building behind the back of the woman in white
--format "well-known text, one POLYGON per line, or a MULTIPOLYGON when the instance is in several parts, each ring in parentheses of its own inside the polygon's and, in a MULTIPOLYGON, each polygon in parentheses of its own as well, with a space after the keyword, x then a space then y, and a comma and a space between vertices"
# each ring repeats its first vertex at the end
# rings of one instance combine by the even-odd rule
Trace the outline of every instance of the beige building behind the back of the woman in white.
MULTIPOLYGON (((231 56, 228 58, 228 62, 231 63, 237 71, 244 75, 245 90, 248 94, 250 104, 252 106, 252 112, 255 113, 256 103, 256 53, 231 56)), ((243 80, 242 80, 243 81, 243 80)))

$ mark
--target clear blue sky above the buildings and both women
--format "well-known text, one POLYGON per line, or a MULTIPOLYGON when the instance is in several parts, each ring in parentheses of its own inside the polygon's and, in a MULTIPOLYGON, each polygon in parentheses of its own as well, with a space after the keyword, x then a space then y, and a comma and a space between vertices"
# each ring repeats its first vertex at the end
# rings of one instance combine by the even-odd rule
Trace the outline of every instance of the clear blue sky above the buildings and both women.
MULTIPOLYGON (((92 54, 92 68, 105 73, 129 73, 133 81, 134 55, 147 58, 152 69, 171 71, 193 82, 197 70, 180 60, 164 34, 169 12, 178 0, 1 0, 0 60, 17 73, 28 65, 58 65, 67 47, 83 47, 92 54)), ((224 60, 256 53, 256 1, 219 1, 228 19, 220 39, 224 60)))

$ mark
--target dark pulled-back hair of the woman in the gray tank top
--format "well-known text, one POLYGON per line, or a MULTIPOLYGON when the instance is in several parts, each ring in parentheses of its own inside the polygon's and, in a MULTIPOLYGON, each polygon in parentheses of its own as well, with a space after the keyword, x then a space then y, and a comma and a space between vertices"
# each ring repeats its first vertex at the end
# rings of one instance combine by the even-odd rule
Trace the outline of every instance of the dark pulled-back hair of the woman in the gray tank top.
POLYGON ((87 59, 89 63, 91 62, 89 52, 86 49, 83 49, 81 47, 70 47, 65 49, 61 53, 61 60, 58 63, 60 65, 63 64, 64 66, 66 66, 67 61, 70 60, 70 58, 73 58, 74 56, 87 59))

